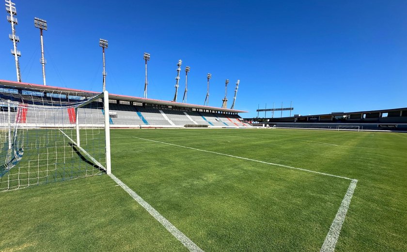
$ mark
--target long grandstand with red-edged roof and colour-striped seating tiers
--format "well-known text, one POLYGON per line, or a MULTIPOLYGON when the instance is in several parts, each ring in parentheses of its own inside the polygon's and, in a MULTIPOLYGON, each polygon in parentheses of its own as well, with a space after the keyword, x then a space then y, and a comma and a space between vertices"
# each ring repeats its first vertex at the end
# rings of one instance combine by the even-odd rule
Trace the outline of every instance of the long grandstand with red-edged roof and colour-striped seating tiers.
MULTIPOLYGON (((77 121, 87 127, 104 124, 104 101, 98 93, 0 82, 0 115, 11 110, 15 123, 27 127, 75 127, 77 121)), ((237 116, 237 112, 244 112, 241 110, 117 94, 104 98, 109 100, 109 123, 113 127, 245 126, 237 116)))

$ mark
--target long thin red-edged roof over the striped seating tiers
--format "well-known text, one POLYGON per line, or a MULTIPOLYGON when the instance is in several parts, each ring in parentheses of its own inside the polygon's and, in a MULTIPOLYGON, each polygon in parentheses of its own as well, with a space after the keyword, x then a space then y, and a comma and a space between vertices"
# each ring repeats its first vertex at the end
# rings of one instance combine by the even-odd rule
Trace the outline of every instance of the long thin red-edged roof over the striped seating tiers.
MULTIPOLYGON (((42 90, 42 91, 47 90, 47 91, 99 94, 99 92, 94 92, 94 91, 85 91, 85 90, 54 87, 54 86, 44 86, 44 85, 39 85, 39 84, 31 84, 31 83, 16 82, 16 81, 1 80, 1 79, 0 79, 0 85, 11 86, 11 87, 20 87, 20 88, 24 88, 24 89, 31 89, 33 91, 34 90, 42 90)), ((140 102, 140 103, 147 103, 147 104, 159 104, 159 105, 177 106, 177 107, 193 108, 193 109, 201 109, 201 110, 216 110, 216 111, 224 111, 224 112, 231 112, 231 113, 244 113, 244 112, 247 112, 247 111, 244 111, 244 110, 230 110, 230 109, 223 109, 223 108, 217 108, 217 107, 209 107, 209 106, 194 105, 194 104, 181 103, 181 102, 173 102, 173 101, 164 101, 164 100, 156 100, 156 99, 149 99, 149 98, 141 98, 141 97, 136 97, 136 96, 121 95, 121 94, 109 94, 109 99, 121 100, 121 101, 133 101, 133 102, 140 102)))

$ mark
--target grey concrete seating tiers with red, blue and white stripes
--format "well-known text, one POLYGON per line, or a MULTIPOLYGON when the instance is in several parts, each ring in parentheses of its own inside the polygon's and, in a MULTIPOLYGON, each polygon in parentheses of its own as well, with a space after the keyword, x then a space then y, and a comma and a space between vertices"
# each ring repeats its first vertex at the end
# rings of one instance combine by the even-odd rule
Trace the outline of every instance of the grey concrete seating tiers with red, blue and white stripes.
MULTIPOLYGON (((110 106, 110 125, 113 127, 184 127, 204 125, 209 127, 247 127, 238 115, 221 114, 191 110, 172 110, 152 106, 115 104, 110 106)), ((101 104, 86 105, 78 109, 79 124, 103 125, 104 111, 101 104)), ((31 126, 69 126, 75 125, 75 112, 72 108, 55 109, 42 106, 40 109, 28 107, 26 121, 31 126), (70 110, 70 111, 69 111, 70 110)))

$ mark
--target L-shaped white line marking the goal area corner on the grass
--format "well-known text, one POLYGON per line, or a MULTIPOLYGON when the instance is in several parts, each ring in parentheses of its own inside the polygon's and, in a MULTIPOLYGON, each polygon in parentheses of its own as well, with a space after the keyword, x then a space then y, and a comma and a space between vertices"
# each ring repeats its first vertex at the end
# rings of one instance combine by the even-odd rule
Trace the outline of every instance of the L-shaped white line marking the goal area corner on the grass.
POLYGON ((246 158, 246 157, 237 157, 237 156, 218 153, 218 152, 214 152, 214 151, 201 150, 201 149, 197 149, 197 148, 182 146, 182 145, 168 143, 168 142, 160 142, 160 141, 149 140, 149 139, 144 139, 144 138, 139 138, 139 137, 133 137, 133 138, 141 139, 141 140, 145 140, 145 141, 150 141, 150 142, 158 142, 158 143, 162 143, 162 144, 168 144, 168 145, 187 148, 187 149, 191 149, 191 150, 197 150, 197 151, 203 151, 203 152, 223 155, 223 156, 227 156, 227 157, 235 157, 235 158, 250 160, 250 161, 254 161, 254 162, 264 163, 264 164, 276 165, 276 166, 281 166, 281 167, 285 167, 285 168, 289 168, 289 169, 300 170, 300 171, 304 171, 304 172, 317 173, 317 174, 321 174, 321 175, 326 175, 326 176, 351 180, 350 185, 349 185, 349 187, 348 187, 348 189, 346 191, 346 194, 344 196, 344 199, 342 200, 341 206, 339 207, 338 212, 336 213, 335 219, 333 219, 333 221, 331 223, 328 235, 325 238, 324 244, 322 245, 320 252, 333 252, 335 250, 336 243, 338 242, 338 238, 339 238, 339 235, 341 233, 342 224, 344 223, 346 213, 347 213, 347 210, 348 210, 349 205, 350 205, 350 200, 352 199, 353 192, 355 191, 356 184, 358 183, 357 179, 351 179, 351 178, 348 178, 348 177, 333 175, 333 174, 329 174, 329 173, 320 173, 320 172, 315 172, 315 171, 311 171, 311 170, 307 170, 307 169, 296 168, 296 167, 282 165, 282 164, 269 163, 269 162, 250 159, 250 158, 246 158))

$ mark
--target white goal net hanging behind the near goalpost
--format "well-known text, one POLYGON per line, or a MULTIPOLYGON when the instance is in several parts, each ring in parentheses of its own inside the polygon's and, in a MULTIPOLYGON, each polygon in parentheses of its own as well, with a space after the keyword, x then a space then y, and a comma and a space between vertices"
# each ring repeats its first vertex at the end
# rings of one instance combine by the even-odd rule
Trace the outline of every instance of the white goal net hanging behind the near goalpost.
POLYGON ((96 95, 0 86, 0 191, 105 173, 96 95))

